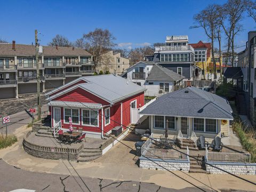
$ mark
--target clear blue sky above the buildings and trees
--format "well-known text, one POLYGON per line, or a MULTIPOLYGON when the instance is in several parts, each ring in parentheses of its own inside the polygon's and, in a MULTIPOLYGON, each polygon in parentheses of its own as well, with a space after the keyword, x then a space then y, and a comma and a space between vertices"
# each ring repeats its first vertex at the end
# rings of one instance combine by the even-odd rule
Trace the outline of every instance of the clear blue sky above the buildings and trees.
MULTIPOLYGON (((193 15, 217 0, 179 1, 4 1, 0 0, 0 38, 31 44, 34 30, 46 45, 56 34, 75 41, 95 28, 109 29, 119 47, 164 42, 166 35, 188 35, 190 43, 208 41, 202 29, 193 26, 193 15)), ((243 20, 244 30, 236 46, 244 45, 247 31, 255 30, 251 18, 243 20)))

